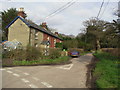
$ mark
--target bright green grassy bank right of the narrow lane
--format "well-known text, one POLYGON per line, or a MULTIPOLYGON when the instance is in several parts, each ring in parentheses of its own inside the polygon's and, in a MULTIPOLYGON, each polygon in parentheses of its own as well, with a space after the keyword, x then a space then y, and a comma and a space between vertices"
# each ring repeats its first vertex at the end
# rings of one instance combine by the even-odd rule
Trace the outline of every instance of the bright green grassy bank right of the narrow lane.
POLYGON ((119 58, 104 52, 95 53, 94 56, 99 59, 93 72, 93 76, 97 78, 97 88, 118 88, 119 58))

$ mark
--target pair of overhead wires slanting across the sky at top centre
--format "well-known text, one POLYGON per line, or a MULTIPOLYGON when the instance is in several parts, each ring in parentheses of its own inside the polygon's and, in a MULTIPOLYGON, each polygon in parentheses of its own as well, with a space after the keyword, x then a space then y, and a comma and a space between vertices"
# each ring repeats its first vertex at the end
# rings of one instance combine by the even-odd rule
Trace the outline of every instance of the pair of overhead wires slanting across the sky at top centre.
POLYGON ((60 13, 61 11, 67 9, 68 7, 70 7, 71 5, 73 5, 76 0, 74 2, 72 2, 72 1, 68 2, 67 4, 65 4, 62 7, 58 8, 57 10, 55 10, 54 12, 52 12, 51 14, 49 14, 47 17, 45 17, 45 19, 47 19, 47 18, 49 18, 51 16, 55 16, 57 13, 60 13))

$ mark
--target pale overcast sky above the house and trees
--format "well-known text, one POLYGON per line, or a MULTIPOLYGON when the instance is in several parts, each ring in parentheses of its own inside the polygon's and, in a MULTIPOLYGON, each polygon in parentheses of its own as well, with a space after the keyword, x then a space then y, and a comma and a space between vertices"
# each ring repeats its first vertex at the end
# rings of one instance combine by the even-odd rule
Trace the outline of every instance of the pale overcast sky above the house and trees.
MULTIPOLYGON (((70 0, 71 1, 71 0, 70 0)), ((102 12, 107 5, 107 1, 104 3, 102 12)), ((9 8, 20 8, 24 7, 27 13, 27 19, 32 20, 36 24, 41 24, 45 17, 56 9, 65 5, 67 2, 11 2, 10 0, 2 1, 2 7, 0 11, 7 10, 9 8)), ((77 35, 82 32, 83 21, 88 20, 91 17, 96 17, 100 9, 101 2, 76 2, 69 8, 57 13, 55 16, 51 16, 45 21, 48 27, 57 29, 58 32, 67 35, 77 35)), ((106 7, 105 12, 100 18, 106 21, 112 21, 117 19, 113 13, 117 10, 117 2, 110 2, 106 7)))

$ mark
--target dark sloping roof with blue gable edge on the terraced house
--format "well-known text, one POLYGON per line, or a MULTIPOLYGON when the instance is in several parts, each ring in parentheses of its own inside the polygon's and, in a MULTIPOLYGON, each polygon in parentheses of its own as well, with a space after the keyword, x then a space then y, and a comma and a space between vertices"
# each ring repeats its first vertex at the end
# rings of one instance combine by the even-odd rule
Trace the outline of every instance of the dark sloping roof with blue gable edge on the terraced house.
POLYGON ((45 30, 44 28, 42 28, 41 26, 38 26, 37 24, 29 21, 29 20, 26 20, 26 19, 23 19, 21 18, 20 16, 17 16, 8 26, 6 26, 6 28, 9 28, 18 18, 20 18, 27 26, 31 27, 31 28, 35 28, 43 33, 46 33, 48 35, 51 35, 55 38, 58 38, 60 40, 62 40, 61 38, 59 38, 58 36, 56 36, 55 34, 53 34, 52 32, 48 31, 48 30, 45 30))

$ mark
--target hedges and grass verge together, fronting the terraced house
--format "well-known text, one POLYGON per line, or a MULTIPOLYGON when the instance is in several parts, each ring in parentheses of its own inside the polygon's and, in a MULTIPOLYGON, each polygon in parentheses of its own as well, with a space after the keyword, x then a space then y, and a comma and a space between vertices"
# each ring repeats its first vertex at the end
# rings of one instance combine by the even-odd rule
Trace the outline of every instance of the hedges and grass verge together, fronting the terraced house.
POLYGON ((70 63, 70 57, 61 55, 60 49, 42 49, 27 46, 26 49, 6 51, 2 54, 2 66, 56 65, 70 63))

